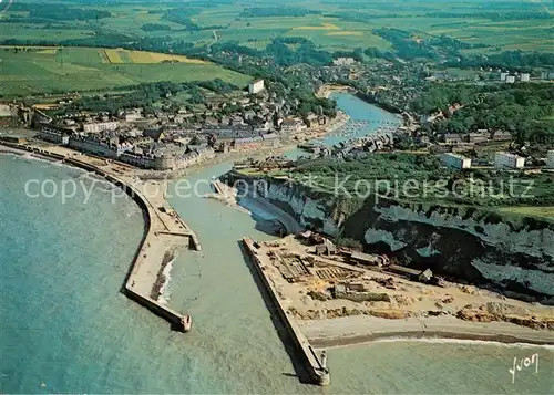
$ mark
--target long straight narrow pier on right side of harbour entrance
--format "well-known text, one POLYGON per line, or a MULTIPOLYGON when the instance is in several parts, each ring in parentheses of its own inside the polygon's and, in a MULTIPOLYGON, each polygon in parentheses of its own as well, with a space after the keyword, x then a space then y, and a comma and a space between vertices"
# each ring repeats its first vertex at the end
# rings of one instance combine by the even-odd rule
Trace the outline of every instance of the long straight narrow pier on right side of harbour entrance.
POLYGON ((300 330, 300 326, 295 316, 293 316, 293 314, 288 310, 287 301, 279 295, 277 288, 266 273, 266 270, 270 268, 270 263, 265 262, 267 257, 261 257, 260 254, 258 254, 259 246, 249 238, 244 238, 243 245, 248 251, 248 254, 254 262, 254 267, 256 268, 256 272, 261 279, 261 282, 266 287, 269 297, 275 304, 279 319, 283 321, 285 328, 293 339, 295 347, 301 355, 302 364, 305 365, 306 371, 309 374, 310 381, 314 384, 321 386, 329 385, 331 383, 331 376, 329 370, 327 368, 326 352, 324 351, 321 355, 318 356, 316 351, 310 345, 308 339, 300 330))

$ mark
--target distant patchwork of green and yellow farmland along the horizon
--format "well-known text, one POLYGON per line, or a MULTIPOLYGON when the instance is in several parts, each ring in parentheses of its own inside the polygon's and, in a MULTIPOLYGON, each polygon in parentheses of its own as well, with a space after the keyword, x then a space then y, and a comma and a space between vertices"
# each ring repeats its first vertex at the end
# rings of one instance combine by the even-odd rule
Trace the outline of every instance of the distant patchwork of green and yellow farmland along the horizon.
POLYGON ((264 49, 278 37, 302 37, 328 51, 360 46, 389 50, 391 43, 376 35, 373 29, 396 28, 411 31, 422 40, 445 34, 471 44, 491 45, 469 49, 469 52, 516 49, 552 52, 554 48, 552 10, 541 1, 497 0, 483 7, 480 0, 308 0, 301 4, 283 0, 278 6, 256 0, 233 4, 201 0, 185 7, 179 2, 165 1, 113 6, 99 0, 96 3, 89 1, 86 6, 71 7, 101 9, 110 12, 110 17, 25 23, 25 12, 8 11, 0 15, 1 20, 13 21, 0 22, 0 37, 61 41, 91 38, 104 32, 134 38, 171 37, 194 45, 206 45, 213 42, 215 31, 220 41, 238 41, 256 49, 264 49), (283 12, 267 12, 271 8, 283 12), (308 12, 290 14, 287 12, 290 9, 308 12), (544 18, 548 14, 550 18, 544 18), (175 17, 186 18, 193 28, 175 17), (160 29, 144 29, 148 25, 160 29))

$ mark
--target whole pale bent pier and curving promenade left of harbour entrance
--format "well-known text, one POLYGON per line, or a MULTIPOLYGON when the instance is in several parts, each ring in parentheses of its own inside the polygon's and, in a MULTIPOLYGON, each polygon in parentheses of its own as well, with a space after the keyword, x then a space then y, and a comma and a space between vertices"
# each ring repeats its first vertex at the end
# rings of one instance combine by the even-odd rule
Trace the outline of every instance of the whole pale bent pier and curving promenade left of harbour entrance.
POLYGON ((42 147, 2 142, 2 145, 16 152, 28 152, 38 156, 60 160, 81 168, 105 179, 123 189, 141 208, 144 217, 144 232, 131 269, 122 287, 122 292, 154 314, 166 320, 172 329, 187 332, 191 329, 191 318, 160 303, 151 298, 158 273, 162 271, 164 256, 170 250, 187 247, 199 251, 202 249, 197 236, 189 229, 165 199, 165 194, 156 194, 148 198, 143 190, 146 184, 110 169, 94 165, 94 158, 84 155, 78 157, 60 154, 42 147), (158 195, 158 196, 157 196, 158 195))

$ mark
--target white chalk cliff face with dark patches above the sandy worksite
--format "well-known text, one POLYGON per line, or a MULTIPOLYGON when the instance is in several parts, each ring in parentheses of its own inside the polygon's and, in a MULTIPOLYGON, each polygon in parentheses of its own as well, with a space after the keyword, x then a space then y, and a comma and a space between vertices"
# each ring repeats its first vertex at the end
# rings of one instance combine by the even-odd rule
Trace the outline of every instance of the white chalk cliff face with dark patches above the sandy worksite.
POLYGON ((414 268, 554 303, 552 222, 509 220, 474 208, 339 199, 276 179, 264 189, 258 193, 306 228, 359 240, 368 251, 414 268))

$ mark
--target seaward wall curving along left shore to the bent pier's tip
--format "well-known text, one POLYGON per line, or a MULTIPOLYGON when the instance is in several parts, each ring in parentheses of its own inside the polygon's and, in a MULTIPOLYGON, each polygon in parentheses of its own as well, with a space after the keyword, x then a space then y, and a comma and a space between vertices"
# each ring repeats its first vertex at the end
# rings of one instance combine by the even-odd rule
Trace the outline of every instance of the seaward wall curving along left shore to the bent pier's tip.
MULTIPOLYGON (((150 298, 150 295, 144 290, 140 291, 134 287, 135 282, 138 281, 138 278, 141 276, 141 268, 144 266, 145 260, 147 258, 146 253, 147 249, 151 246, 151 243, 154 242, 153 239, 156 237, 155 231, 152 228, 152 221, 156 216, 157 218, 160 218, 157 212, 154 212, 154 209, 152 205, 148 202, 148 200, 137 189, 133 188, 130 184, 125 183, 124 180, 115 176, 105 173, 101 168, 91 165, 89 163, 31 146, 12 144, 7 142, 2 142, 1 145, 18 150, 33 153, 39 156, 43 156, 45 158, 62 160, 65 164, 72 165, 74 167, 81 168, 86 171, 94 173, 95 175, 103 177, 111 184, 122 188, 133 199, 133 201, 135 201, 138 205, 144 216, 144 232, 141 243, 138 245, 137 251, 135 253, 135 257, 132 261, 131 270, 126 276, 124 285, 122 287, 122 291, 123 293, 125 293, 125 295, 127 295, 127 298, 134 300, 138 304, 152 311, 154 314, 170 322, 173 329, 184 330, 182 320, 185 318, 185 315, 176 312, 175 310, 166 305, 161 304, 160 302, 150 298)), ((161 218, 160 220, 163 221, 161 218)), ((178 218, 178 220, 182 221, 181 217, 178 218)), ((188 242, 191 248, 194 248, 196 250, 201 249, 199 241, 194 232, 189 231, 188 233, 181 236, 188 237, 188 242)))

